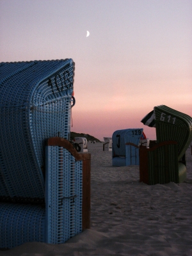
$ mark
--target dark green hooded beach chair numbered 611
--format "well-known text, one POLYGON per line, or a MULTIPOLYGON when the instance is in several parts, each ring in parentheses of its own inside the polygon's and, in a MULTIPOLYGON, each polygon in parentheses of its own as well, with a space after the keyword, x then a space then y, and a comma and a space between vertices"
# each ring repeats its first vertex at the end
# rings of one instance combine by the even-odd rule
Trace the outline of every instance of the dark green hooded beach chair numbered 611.
POLYGON ((140 147, 140 182, 165 184, 186 179, 185 152, 192 140, 192 118, 167 106, 154 107, 157 143, 140 147))

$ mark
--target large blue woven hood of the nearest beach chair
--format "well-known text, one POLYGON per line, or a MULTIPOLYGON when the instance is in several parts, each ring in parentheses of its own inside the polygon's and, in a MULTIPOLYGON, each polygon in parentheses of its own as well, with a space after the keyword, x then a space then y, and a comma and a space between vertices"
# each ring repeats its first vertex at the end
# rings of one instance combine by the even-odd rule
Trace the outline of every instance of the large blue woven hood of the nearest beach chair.
POLYGON ((74 62, 0 63, 0 196, 44 198, 44 145, 68 138, 74 62))

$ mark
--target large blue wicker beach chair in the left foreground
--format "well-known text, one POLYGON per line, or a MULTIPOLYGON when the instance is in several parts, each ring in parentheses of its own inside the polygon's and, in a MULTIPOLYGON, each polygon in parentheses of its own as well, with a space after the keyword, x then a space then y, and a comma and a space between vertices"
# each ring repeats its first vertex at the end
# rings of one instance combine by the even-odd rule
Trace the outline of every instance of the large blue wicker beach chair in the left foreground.
POLYGON ((0 63, 0 74, 0 247, 65 243, 90 220, 90 154, 68 141, 74 61, 0 63))

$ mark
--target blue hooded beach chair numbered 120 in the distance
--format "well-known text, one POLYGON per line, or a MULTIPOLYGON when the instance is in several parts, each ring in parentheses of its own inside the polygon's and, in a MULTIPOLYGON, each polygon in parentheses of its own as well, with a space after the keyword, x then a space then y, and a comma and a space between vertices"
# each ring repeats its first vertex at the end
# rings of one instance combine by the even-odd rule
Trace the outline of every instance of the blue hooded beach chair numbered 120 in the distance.
POLYGON ((112 164, 129 166, 140 164, 139 143, 143 129, 124 129, 113 132, 112 164))

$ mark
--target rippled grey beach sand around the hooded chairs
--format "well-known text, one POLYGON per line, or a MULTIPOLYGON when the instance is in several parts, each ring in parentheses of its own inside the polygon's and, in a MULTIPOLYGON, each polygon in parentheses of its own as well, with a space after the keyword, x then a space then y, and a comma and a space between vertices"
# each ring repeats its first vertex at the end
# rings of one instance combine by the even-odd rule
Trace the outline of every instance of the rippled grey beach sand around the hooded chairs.
POLYGON ((186 182, 148 186, 139 166, 112 166, 102 143, 92 154, 91 228, 65 244, 26 243, 3 256, 192 255, 192 156, 186 182))

